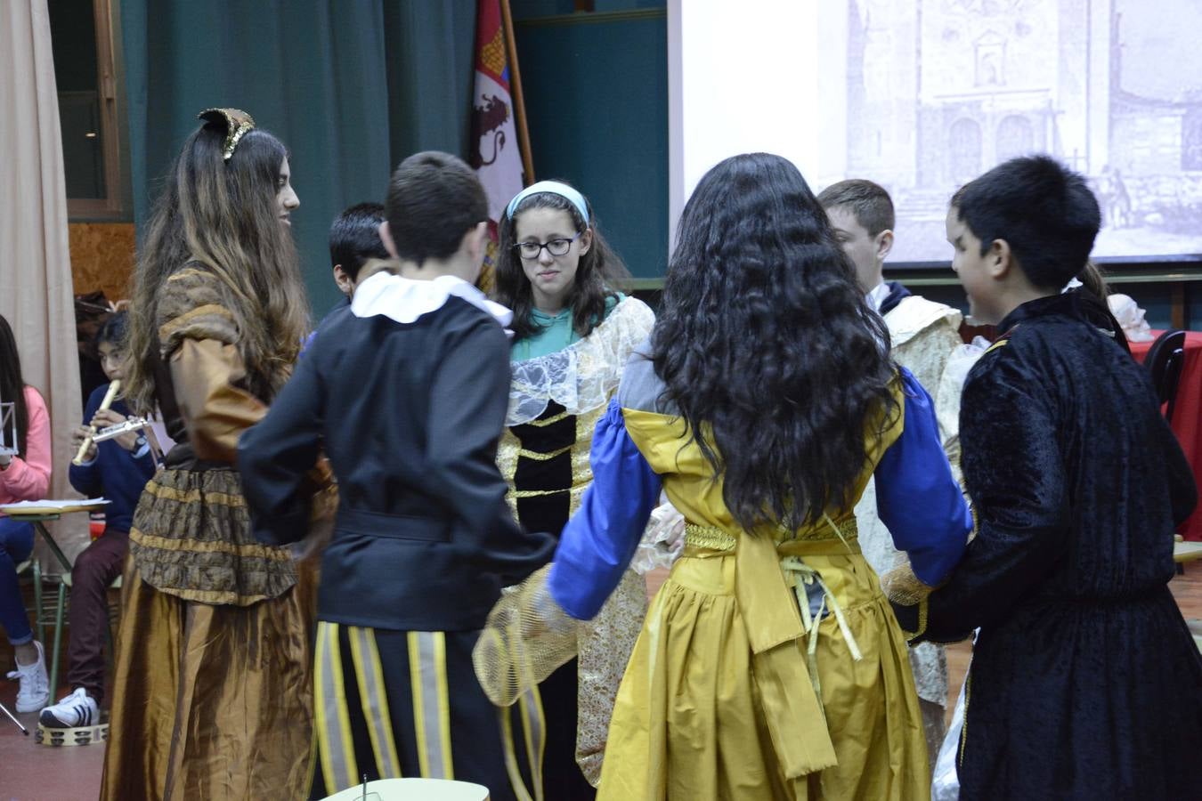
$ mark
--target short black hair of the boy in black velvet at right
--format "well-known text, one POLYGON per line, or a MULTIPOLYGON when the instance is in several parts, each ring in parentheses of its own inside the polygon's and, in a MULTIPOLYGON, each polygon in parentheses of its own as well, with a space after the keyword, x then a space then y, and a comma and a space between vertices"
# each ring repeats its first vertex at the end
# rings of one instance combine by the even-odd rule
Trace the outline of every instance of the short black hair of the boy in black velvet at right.
POLYGON ((1051 156, 1023 156, 998 165, 952 196, 959 220, 981 240, 1010 245, 1027 279, 1059 289, 1081 273, 1102 225, 1097 198, 1051 156))

